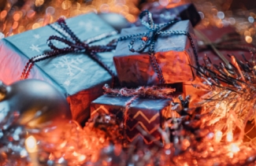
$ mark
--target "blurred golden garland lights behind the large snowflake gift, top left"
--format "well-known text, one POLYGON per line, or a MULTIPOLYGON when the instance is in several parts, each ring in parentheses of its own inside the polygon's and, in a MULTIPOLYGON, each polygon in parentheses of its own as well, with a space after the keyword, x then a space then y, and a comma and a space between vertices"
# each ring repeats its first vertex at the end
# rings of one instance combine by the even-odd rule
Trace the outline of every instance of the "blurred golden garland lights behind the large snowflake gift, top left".
POLYGON ((83 13, 117 13, 130 22, 139 14, 139 1, 28 0, 7 1, 0 5, 0 31, 10 36, 54 23, 59 17, 75 17, 83 13))

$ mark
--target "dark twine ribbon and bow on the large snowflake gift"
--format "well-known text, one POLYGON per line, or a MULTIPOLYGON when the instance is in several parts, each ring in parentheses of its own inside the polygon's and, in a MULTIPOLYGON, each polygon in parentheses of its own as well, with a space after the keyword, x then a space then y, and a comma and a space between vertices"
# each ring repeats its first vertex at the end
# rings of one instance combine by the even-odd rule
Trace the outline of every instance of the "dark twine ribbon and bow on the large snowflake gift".
POLYGON ((48 24, 51 28, 53 28, 55 31, 58 31, 58 33, 62 36, 59 37, 57 35, 51 35, 49 39, 47 40, 47 45, 50 46, 52 51, 43 53, 42 55, 32 57, 29 59, 28 63, 26 64, 24 71, 22 72, 20 79, 27 79, 29 72, 32 69, 32 66, 37 61, 43 61, 46 58, 49 57, 55 57, 58 56, 61 53, 81 53, 85 52, 89 57, 91 57, 94 61, 98 62, 99 65, 101 65, 103 68, 106 69, 109 74, 114 77, 114 72, 105 65, 95 53, 101 53, 106 51, 111 51, 116 48, 116 41, 113 40, 109 42, 106 46, 89 46, 92 42, 97 42, 102 39, 106 39, 109 36, 116 35, 117 31, 111 31, 104 33, 102 35, 98 35, 95 38, 87 39, 85 42, 82 42, 80 39, 76 37, 76 35, 70 30, 70 28, 65 23, 64 18, 59 18, 57 21, 57 24, 48 24), (57 46, 54 46, 53 40, 57 40, 59 42, 65 43, 67 45, 64 48, 58 48, 57 46))

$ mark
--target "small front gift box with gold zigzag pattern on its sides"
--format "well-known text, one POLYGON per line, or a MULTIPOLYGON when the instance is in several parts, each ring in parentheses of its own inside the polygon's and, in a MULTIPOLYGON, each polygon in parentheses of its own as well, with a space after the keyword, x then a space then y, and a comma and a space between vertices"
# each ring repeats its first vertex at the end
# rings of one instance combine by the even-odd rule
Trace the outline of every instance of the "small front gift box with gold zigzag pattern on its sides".
MULTIPOLYGON (((173 95, 173 100, 178 101, 178 94, 173 95)), ((91 102, 91 118, 98 113, 112 113, 117 119, 123 120, 126 102, 130 97, 117 97, 111 94, 104 94, 91 102)), ((176 115, 176 114, 175 114, 176 115)), ((158 128, 162 126, 166 119, 172 116, 172 110, 169 99, 138 98, 132 102, 128 109, 128 120, 126 122, 126 138, 129 142, 141 136, 147 144, 161 140, 161 134, 158 128), (154 137, 150 139, 138 130, 141 127, 143 131, 154 137)))

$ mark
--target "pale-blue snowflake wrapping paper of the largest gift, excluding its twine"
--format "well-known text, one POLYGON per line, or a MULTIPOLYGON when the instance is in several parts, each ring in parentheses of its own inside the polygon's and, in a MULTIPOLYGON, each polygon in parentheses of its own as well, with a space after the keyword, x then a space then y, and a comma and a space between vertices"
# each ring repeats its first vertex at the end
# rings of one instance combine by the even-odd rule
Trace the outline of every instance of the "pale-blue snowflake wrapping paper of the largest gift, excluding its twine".
MULTIPOLYGON (((66 23, 82 41, 114 31, 94 13, 67 19, 66 23)), ((6 84, 19 80, 29 58, 50 51, 46 44, 50 35, 61 36, 46 26, 0 40, 0 80, 6 84)), ((94 42, 93 45, 106 45, 114 38, 117 36, 94 42)), ((58 41, 54 44, 65 46, 58 41)), ((115 71, 112 52, 98 53, 98 57, 115 71)), ((69 101, 73 119, 82 123, 90 115, 91 101, 102 94, 103 85, 111 83, 112 77, 86 53, 68 53, 36 62, 28 79, 42 79, 58 87, 69 101)))

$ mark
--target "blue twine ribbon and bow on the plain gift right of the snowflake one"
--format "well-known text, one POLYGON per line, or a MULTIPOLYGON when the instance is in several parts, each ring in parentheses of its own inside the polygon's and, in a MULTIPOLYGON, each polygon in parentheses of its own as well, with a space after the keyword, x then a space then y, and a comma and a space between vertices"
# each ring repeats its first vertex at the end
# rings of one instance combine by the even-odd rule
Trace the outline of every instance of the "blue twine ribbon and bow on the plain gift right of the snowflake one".
POLYGON ((158 74, 158 79, 160 84, 165 83, 165 78, 162 75, 161 68, 158 65, 157 59, 154 56, 154 42, 156 41, 158 35, 187 35, 187 38, 190 40, 193 52, 195 54, 195 61, 198 65, 197 51, 195 50, 193 39, 191 38, 191 35, 187 31, 163 31, 164 28, 168 27, 171 24, 175 24, 179 20, 171 20, 165 24, 154 24, 152 14, 148 10, 144 10, 142 13, 139 14, 139 20, 148 29, 148 31, 144 33, 138 33, 135 35, 126 35, 119 38, 118 41, 132 38, 132 41, 128 45, 129 50, 132 52, 138 52, 138 53, 142 52, 143 50, 145 50, 145 48, 149 46, 148 54, 150 56, 150 63, 154 68, 154 72, 158 74), (147 16, 147 21, 143 20, 143 17, 146 17, 146 16, 147 16), (137 50, 135 50, 133 45, 137 40, 141 40, 142 44, 139 46, 137 50))

